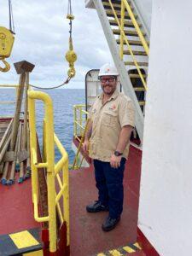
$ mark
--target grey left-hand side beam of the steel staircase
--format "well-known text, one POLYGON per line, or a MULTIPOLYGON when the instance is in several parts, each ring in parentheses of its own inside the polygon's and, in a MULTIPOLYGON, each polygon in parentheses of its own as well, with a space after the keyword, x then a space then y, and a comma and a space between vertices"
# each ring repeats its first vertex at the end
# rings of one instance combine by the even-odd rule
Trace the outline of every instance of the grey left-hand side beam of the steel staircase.
POLYGON ((106 15, 106 11, 102 5, 102 1, 101 0, 93 0, 93 3, 95 4, 97 15, 99 16, 100 22, 102 24, 102 30, 105 34, 107 41, 108 41, 108 47, 109 47, 111 55, 113 57, 114 64, 118 69, 120 83, 123 86, 124 93, 126 96, 129 96, 131 98, 131 100, 134 104, 135 111, 136 111, 137 133, 138 133, 139 138, 142 143, 143 142, 143 125, 144 125, 144 117, 143 117, 142 110, 137 101, 137 96, 135 94, 135 91, 133 90, 133 87, 131 84, 131 79, 127 73, 124 61, 120 60, 118 45, 114 38, 111 26, 108 21, 108 16, 106 15))

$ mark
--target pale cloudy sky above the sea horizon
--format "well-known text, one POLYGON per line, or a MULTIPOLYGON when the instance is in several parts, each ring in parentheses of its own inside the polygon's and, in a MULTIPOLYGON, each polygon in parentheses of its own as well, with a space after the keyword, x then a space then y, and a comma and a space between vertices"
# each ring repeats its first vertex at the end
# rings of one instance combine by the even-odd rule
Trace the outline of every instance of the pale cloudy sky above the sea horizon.
MULTIPOLYGON (((15 44, 9 73, 0 73, 0 84, 18 84, 13 63, 29 61, 35 65, 30 84, 53 86, 67 79, 69 21, 67 0, 12 0, 15 44)), ((85 9, 84 0, 72 0, 73 48, 78 55, 76 76, 67 88, 84 88, 84 76, 91 68, 111 62, 108 44, 95 9, 85 9)), ((8 0, 0 0, 0 26, 9 28, 8 0)), ((3 66, 1 64, 1 66, 3 66)))

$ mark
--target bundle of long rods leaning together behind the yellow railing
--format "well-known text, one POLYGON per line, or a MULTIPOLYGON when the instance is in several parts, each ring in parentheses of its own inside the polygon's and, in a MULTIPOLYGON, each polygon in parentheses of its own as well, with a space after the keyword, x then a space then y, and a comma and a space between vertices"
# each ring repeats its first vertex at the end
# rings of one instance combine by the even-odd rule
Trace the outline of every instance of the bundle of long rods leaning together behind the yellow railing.
POLYGON ((0 171, 3 171, 2 184, 15 183, 15 172, 20 172, 18 183, 31 176, 29 157, 29 125, 27 122, 27 76, 20 75, 20 86, 17 92, 15 117, 9 123, 0 142, 0 171), (26 84, 26 86, 25 86, 26 84), (20 120, 20 108, 25 90, 24 119, 20 120), (26 172, 25 172, 26 170, 26 172))

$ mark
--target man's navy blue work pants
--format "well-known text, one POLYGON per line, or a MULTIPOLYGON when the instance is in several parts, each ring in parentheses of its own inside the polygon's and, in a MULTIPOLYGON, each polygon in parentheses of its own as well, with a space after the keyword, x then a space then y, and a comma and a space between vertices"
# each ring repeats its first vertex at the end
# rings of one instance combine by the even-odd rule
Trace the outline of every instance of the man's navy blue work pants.
POLYGON ((94 160, 98 200, 109 207, 111 218, 118 218, 123 211, 125 161, 122 158, 119 168, 112 168, 109 162, 94 160))

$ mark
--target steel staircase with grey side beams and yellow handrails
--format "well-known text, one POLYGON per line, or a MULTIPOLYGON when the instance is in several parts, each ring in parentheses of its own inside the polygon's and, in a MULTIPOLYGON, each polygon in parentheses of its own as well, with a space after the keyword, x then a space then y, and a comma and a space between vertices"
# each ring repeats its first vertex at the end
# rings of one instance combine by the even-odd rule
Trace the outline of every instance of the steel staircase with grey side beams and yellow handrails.
POLYGON ((118 68, 125 95, 130 96, 134 102, 136 128, 142 142, 147 90, 148 33, 133 0, 92 0, 92 2, 102 23, 113 61, 118 68), (125 33, 125 38, 122 31, 125 33))

